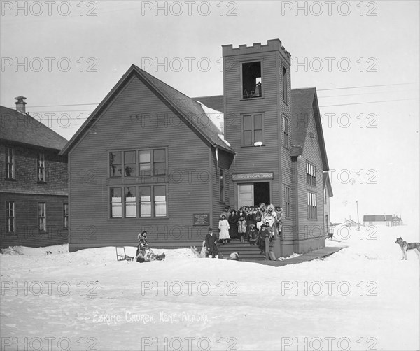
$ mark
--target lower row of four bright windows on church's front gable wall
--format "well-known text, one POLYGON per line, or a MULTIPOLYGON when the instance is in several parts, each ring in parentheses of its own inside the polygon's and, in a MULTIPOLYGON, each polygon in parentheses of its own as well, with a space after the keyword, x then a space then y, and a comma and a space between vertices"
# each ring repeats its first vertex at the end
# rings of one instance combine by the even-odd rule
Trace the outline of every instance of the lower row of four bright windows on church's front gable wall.
POLYGON ((111 218, 167 217, 167 185, 111 187, 110 202, 111 218))

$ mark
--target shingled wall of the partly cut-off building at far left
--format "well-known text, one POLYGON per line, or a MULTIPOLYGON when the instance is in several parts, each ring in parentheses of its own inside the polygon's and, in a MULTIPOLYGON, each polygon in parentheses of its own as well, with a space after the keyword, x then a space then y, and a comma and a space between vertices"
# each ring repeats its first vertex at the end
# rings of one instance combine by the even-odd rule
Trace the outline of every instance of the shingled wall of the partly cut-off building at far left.
POLYGON ((58 150, 0 145, 0 246, 41 247, 67 242, 63 204, 67 203, 67 157, 58 150), (13 148, 15 179, 6 180, 6 148, 13 148), (45 182, 38 183, 38 153, 45 155, 45 182), (6 232, 6 202, 15 202, 15 233, 6 232), (38 202, 45 202, 47 231, 38 231, 38 202))

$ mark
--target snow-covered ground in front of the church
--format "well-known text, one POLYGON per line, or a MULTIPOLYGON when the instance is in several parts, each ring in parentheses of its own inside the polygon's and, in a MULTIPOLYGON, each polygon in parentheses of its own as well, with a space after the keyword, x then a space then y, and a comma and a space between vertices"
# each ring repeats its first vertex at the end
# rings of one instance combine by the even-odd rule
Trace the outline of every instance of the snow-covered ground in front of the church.
POLYGON ((0 255, 1 350, 419 350, 419 259, 400 260, 399 236, 419 230, 337 228, 326 244, 348 248, 283 267, 13 248, 0 255))

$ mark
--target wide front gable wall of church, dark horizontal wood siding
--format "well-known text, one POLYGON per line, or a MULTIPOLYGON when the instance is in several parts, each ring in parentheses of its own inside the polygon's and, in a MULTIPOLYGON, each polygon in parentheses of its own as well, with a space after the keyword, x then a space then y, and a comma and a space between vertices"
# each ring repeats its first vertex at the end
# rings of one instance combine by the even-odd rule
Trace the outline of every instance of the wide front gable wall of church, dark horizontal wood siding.
MULTIPOLYGON (((209 145, 176 117, 138 78, 132 78, 71 150, 69 250, 106 245, 137 245, 148 231, 152 247, 201 244, 207 227, 193 226, 193 213, 211 213, 209 145), (152 117, 153 116, 153 117, 152 117), (167 148, 168 217, 111 219, 111 185, 142 185, 141 177, 109 178, 109 151, 167 148), (203 234, 204 233, 204 234, 203 234)), ((139 199, 137 199, 137 203, 139 199)))

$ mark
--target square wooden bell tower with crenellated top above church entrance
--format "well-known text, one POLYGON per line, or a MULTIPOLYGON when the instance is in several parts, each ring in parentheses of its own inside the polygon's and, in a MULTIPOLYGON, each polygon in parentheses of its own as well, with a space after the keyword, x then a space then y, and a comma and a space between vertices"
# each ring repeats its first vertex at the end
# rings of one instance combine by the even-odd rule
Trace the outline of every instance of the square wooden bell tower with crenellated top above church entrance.
POLYGON ((225 139, 236 152, 231 199, 235 206, 281 206, 282 167, 290 163, 290 53, 279 39, 223 45, 223 88, 225 139))

